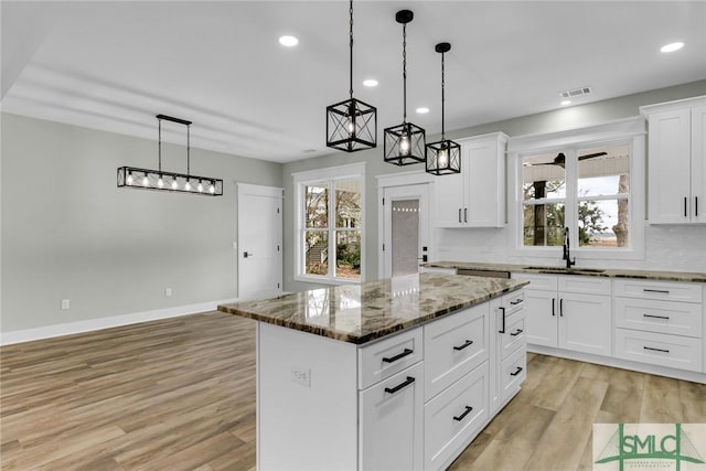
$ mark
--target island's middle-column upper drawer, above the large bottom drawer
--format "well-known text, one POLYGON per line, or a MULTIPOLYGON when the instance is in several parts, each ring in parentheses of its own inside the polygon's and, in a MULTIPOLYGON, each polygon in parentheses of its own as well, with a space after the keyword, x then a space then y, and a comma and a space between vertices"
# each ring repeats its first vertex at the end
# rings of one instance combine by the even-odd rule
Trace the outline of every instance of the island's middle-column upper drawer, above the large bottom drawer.
POLYGON ((488 314, 484 303, 425 325, 426 400, 488 358, 488 314))

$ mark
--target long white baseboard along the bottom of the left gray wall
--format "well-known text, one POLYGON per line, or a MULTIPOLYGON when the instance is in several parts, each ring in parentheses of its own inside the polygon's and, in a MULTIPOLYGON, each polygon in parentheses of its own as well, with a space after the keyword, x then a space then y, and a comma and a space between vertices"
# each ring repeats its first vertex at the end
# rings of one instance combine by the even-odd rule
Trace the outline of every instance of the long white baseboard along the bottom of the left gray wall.
POLYGON ((237 298, 222 299, 218 301, 200 302, 196 304, 176 306, 173 308, 135 312, 130 314, 113 315, 110 318, 89 319, 86 321, 45 325, 45 327, 34 328, 34 329, 1 332, 0 345, 11 345, 14 343, 32 342, 34 340, 72 335, 75 333, 117 328, 120 325, 137 324, 140 322, 178 318, 181 315, 194 314, 196 312, 213 311, 216 309, 218 304, 224 304, 224 303, 235 302, 235 301, 237 301, 237 298))

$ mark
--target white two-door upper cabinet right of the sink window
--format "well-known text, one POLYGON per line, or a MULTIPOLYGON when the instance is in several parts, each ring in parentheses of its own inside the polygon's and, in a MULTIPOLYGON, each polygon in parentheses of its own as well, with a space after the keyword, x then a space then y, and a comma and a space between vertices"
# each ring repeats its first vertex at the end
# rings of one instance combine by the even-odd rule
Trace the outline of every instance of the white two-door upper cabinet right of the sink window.
POLYGON ((640 110, 649 121, 650 223, 706 223, 706 97, 640 110))

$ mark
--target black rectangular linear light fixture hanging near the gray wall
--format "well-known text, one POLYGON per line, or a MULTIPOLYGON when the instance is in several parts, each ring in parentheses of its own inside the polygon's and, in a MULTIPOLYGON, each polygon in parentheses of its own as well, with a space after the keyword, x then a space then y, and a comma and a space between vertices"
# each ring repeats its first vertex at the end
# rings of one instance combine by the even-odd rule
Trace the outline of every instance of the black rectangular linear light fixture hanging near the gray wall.
POLYGON ((191 174, 191 121, 157 115, 159 121, 159 169, 149 170, 137 167, 118 168, 118 188, 136 190, 171 191, 178 193, 202 194, 205 196, 223 196, 223 180, 213 176, 191 174), (162 170, 162 119, 186 126, 186 173, 165 172, 162 170))

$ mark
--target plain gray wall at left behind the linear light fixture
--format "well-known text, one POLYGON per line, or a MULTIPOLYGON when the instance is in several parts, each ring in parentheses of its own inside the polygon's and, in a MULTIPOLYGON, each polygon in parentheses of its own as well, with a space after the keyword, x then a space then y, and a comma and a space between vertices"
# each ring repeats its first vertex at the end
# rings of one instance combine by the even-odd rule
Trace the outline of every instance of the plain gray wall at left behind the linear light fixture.
MULTIPOLYGON (((118 167, 157 168, 157 139, 1 119, 3 332, 237 296, 235 182, 281 186, 281 164, 192 149, 223 197, 117 189, 118 167)), ((185 170, 183 147, 162 154, 185 170)))

